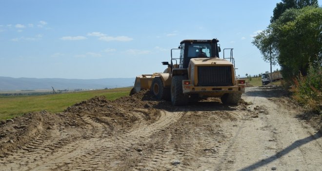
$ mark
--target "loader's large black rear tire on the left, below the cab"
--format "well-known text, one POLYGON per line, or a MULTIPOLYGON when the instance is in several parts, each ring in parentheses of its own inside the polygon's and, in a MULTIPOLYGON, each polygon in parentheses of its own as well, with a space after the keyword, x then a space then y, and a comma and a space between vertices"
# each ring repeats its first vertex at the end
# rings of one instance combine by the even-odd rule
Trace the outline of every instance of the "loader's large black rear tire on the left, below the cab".
POLYGON ((186 105, 189 101, 182 91, 182 80, 187 79, 186 76, 174 76, 171 80, 171 102, 174 106, 186 105))

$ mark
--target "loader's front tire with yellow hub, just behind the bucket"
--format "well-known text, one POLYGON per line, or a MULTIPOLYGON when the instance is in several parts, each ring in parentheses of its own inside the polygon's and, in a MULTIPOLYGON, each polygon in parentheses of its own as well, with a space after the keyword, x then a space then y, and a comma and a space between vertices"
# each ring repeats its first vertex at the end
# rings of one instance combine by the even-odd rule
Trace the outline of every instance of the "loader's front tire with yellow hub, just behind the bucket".
POLYGON ((164 100, 169 100, 170 99, 170 89, 165 88, 163 86, 163 82, 161 77, 155 77, 152 80, 152 84, 150 87, 150 91, 152 94, 156 96, 158 100, 164 99, 164 100))

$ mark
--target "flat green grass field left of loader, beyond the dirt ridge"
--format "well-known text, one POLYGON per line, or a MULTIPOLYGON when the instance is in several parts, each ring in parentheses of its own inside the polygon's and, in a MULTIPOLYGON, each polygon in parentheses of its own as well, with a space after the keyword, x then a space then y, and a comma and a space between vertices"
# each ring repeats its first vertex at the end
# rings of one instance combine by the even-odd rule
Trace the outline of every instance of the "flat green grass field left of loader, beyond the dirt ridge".
POLYGON ((47 110, 61 112, 69 106, 95 96, 105 96, 115 100, 129 94, 131 88, 115 88, 74 93, 48 94, 40 96, 0 96, 0 120, 20 116, 32 111, 47 110))

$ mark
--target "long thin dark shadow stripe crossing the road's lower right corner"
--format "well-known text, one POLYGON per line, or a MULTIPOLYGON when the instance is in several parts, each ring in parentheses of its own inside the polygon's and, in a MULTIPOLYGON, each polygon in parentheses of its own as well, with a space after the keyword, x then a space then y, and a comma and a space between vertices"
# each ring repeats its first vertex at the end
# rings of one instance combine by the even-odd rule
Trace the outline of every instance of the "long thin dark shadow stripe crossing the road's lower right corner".
POLYGON ((322 133, 321 132, 317 132, 314 135, 308 136, 306 138, 303 138, 301 140, 297 140, 295 141, 293 144, 291 144, 290 146, 288 146, 287 148, 277 152, 275 155, 272 155, 266 159, 263 159, 262 161, 256 162, 246 168, 241 169, 240 171, 250 171, 250 170, 256 170, 257 168, 267 165, 268 163, 273 162, 274 160, 277 160, 279 158, 281 158, 283 155, 289 153, 291 150, 294 150, 298 147, 301 147, 302 145, 309 143, 313 140, 319 139, 322 137, 322 133))

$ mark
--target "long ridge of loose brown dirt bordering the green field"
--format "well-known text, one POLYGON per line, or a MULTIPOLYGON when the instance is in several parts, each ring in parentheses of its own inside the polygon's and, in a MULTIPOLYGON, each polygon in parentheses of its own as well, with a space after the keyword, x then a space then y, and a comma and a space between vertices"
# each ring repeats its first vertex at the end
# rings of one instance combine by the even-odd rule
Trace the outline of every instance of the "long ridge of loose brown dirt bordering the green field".
MULTIPOLYGON (((91 135, 84 131, 88 125, 101 124, 106 127, 106 134, 117 133, 118 130, 130 128, 140 119, 155 120, 160 111, 151 106, 156 105, 148 91, 141 91, 132 96, 125 96, 115 102, 107 100, 104 96, 96 96, 67 107, 60 113, 49 113, 46 110, 32 112, 9 119, 0 123, 0 157, 12 154, 24 148, 32 140, 50 134, 54 129, 60 134, 70 130, 68 139, 88 138, 91 135), (133 114, 135 108, 145 107, 146 111, 139 111, 143 116, 133 114)), ((65 135, 65 134, 63 134, 65 135)))

